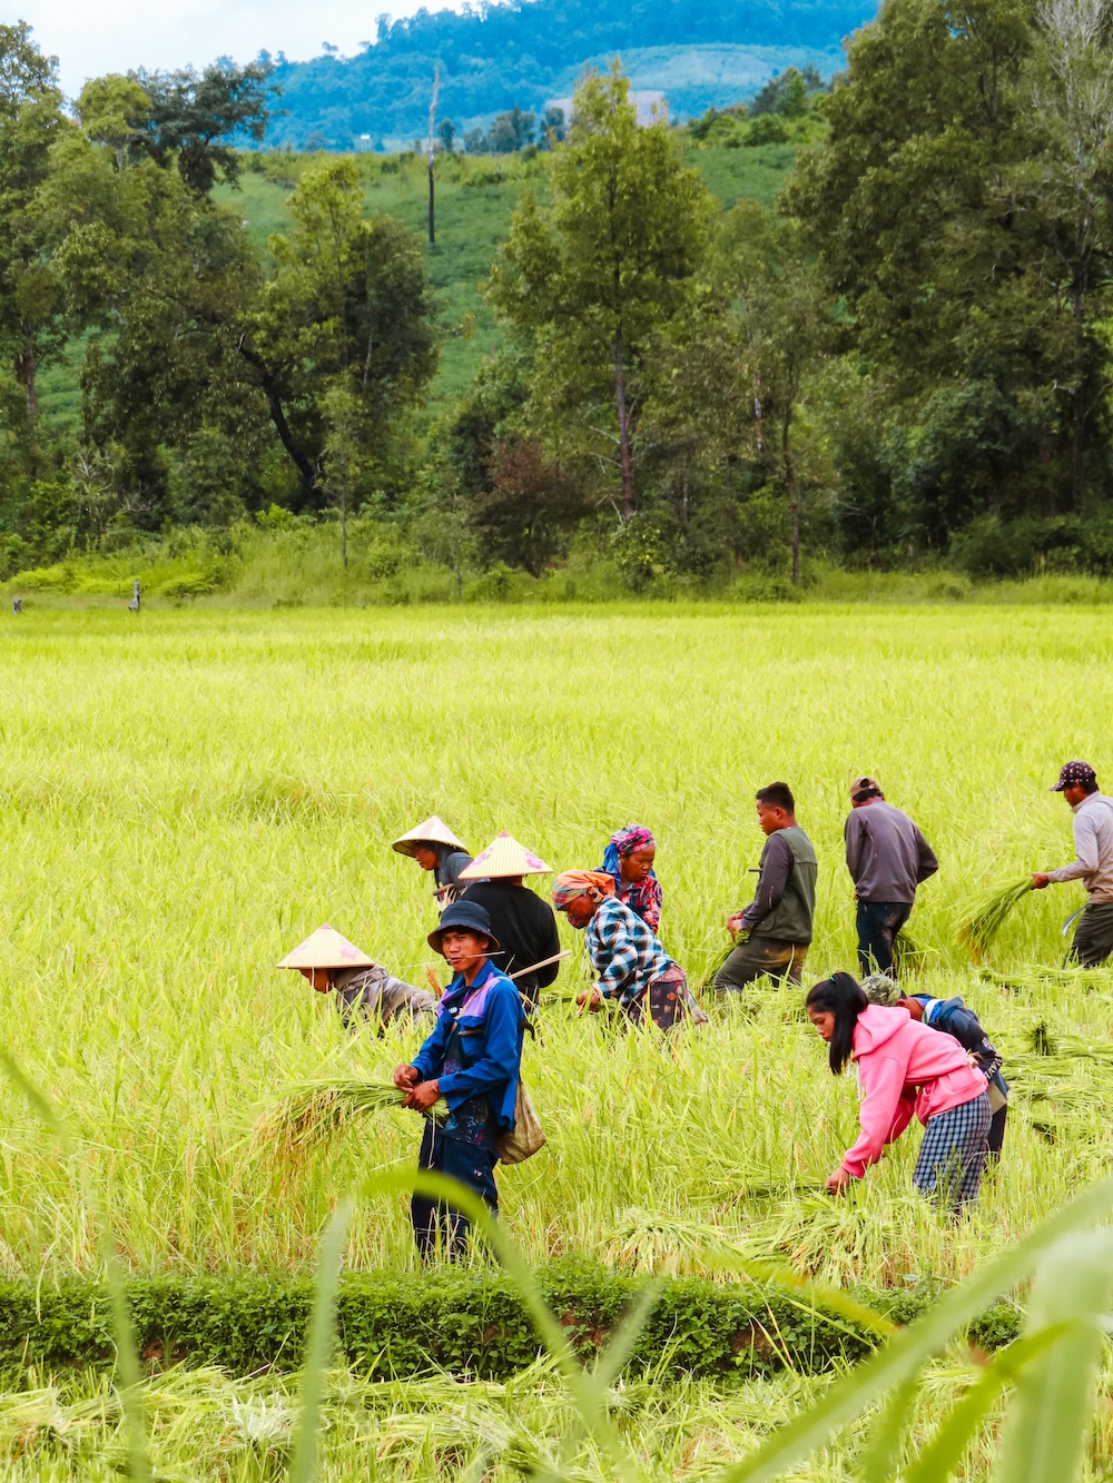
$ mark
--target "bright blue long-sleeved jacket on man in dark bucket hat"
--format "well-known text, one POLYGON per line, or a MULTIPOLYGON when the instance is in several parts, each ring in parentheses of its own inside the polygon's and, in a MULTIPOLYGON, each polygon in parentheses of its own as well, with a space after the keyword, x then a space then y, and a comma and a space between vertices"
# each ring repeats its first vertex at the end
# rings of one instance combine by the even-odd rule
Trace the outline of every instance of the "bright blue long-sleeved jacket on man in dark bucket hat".
POLYGON ((423 1081, 436 1077, 441 1094, 454 1112, 469 1097, 485 1096, 500 1129, 513 1127, 513 1105, 522 1066, 525 1014, 518 989, 493 962, 467 988, 457 974, 444 992, 436 1025, 414 1056, 423 1081), (466 1071, 441 1075, 453 1026, 460 1029, 466 1071))

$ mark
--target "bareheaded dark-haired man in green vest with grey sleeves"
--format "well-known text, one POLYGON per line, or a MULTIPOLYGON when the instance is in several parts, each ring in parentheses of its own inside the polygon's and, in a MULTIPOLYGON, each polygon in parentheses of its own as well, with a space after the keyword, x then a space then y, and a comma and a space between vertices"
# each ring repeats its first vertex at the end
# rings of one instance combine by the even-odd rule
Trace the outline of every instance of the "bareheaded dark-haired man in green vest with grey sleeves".
POLYGON ((757 790, 757 820, 766 835, 757 894, 743 912, 727 915, 727 931, 745 933, 714 979, 718 994, 741 994, 767 974, 800 983, 815 919, 816 857, 795 822, 788 783, 757 790))

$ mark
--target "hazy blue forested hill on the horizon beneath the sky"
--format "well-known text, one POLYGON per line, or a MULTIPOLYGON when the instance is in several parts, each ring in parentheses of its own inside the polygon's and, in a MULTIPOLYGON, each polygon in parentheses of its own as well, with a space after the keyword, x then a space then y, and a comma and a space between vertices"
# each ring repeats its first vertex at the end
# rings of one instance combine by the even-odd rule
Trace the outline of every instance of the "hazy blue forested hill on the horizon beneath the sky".
POLYGON ((429 119, 433 65, 441 67, 441 117, 466 125, 519 104, 570 92, 585 62, 651 47, 666 73, 674 111, 723 107, 787 65, 822 62, 873 18, 876 0, 510 0, 427 12, 390 22, 359 55, 334 50, 306 62, 279 58, 275 80, 285 116, 270 144, 350 148, 353 139, 413 139, 429 119), (711 49, 711 55, 709 55, 711 49), (715 52, 721 55, 714 55, 715 52), (739 55, 742 53, 742 55, 739 55), (816 56, 813 53, 822 53, 816 56))

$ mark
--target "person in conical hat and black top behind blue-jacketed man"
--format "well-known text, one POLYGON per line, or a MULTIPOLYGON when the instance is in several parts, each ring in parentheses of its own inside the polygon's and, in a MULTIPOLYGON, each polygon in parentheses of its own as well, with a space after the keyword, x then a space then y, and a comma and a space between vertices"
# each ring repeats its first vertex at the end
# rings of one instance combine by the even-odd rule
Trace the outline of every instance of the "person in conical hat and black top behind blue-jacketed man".
POLYGON ((522 884, 527 875, 548 873, 552 866, 512 835, 499 835, 460 871, 462 900, 475 902, 491 919, 491 931, 502 945, 499 967, 513 979, 522 1000, 534 1008, 542 989, 559 973, 561 939, 552 906, 522 884))

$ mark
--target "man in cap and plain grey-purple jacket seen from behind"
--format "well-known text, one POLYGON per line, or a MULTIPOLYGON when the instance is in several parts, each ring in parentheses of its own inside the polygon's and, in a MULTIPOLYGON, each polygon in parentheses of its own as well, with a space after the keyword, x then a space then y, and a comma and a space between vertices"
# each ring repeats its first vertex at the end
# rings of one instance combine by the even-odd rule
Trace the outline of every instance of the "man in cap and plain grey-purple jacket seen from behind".
POLYGON ((908 921, 916 887, 935 875, 939 862, 908 814, 886 804, 873 777, 850 785, 843 836, 858 902, 858 964, 862 973, 892 973, 893 939, 908 921))

